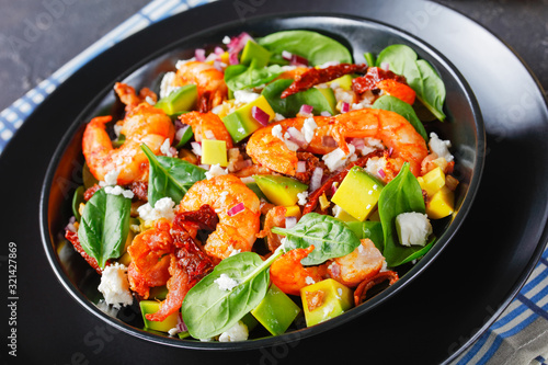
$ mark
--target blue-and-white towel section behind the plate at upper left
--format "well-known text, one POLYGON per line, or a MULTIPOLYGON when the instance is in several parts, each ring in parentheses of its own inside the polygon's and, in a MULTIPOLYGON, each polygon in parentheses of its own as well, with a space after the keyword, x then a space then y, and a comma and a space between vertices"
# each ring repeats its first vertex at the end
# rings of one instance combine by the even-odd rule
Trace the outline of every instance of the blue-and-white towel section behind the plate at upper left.
POLYGON ((148 25, 215 0, 153 0, 0 112, 0 153, 34 110, 80 67, 148 25))

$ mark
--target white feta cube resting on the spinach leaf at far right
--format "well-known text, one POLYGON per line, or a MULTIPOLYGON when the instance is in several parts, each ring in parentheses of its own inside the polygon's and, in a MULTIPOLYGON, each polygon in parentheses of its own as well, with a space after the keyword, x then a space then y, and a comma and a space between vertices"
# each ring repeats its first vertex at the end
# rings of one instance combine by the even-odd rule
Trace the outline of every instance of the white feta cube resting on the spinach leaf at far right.
POLYGON ((432 235, 432 225, 425 214, 411 212, 402 213, 396 217, 396 228, 400 243, 410 247, 425 246, 430 235, 432 235))

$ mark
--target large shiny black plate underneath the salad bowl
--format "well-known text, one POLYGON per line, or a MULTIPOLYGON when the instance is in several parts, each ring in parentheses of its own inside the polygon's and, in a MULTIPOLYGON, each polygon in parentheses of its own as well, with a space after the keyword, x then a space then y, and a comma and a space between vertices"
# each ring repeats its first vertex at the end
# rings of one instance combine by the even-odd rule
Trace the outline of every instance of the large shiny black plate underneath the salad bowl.
MULTIPOLYGON (((18 243, 19 253, 19 358, 27 363, 118 360, 250 364, 284 360, 323 363, 340 361, 346 353, 373 363, 412 358, 439 363, 453 358, 511 301, 543 251, 547 236, 547 192, 543 184, 548 178, 548 156, 543 146, 548 137, 548 112, 535 79, 510 49, 470 20, 429 2, 370 1, 358 7, 352 0, 320 0, 313 7, 411 31, 464 73, 482 109, 488 153, 473 209, 427 275, 401 290, 398 300, 378 306, 365 322, 353 321, 326 335, 293 339, 256 351, 217 353, 160 346, 116 331, 75 306, 56 283, 41 248, 37 212, 45 169, 60 136, 88 101, 133 68, 134 60, 146 59, 175 42, 180 32, 191 34, 238 19, 235 3, 182 13, 101 55, 61 84, 2 153, 0 171, 3 175, 10 172, 10 179, 3 179, 0 187, 10 193, 3 198, 9 215, 2 215, 0 225, 3 237, 18 243), (173 32, 175 28, 178 32, 173 32)), ((283 8, 277 2, 253 3, 247 8, 247 15, 306 12, 310 8, 309 2, 297 0, 283 8)), ((5 327, 2 334, 8 335, 5 327)))

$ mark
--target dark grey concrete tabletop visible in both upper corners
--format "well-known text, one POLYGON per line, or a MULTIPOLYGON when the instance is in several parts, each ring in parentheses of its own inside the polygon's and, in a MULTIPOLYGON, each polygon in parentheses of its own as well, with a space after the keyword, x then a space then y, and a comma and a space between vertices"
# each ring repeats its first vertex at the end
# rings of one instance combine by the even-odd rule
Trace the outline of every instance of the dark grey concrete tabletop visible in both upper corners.
MULTIPOLYGON (((530 67, 544 90, 548 89, 548 0, 437 2, 470 16, 503 39, 530 67)), ((0 0, 0 110, 147 3, 0 0)))

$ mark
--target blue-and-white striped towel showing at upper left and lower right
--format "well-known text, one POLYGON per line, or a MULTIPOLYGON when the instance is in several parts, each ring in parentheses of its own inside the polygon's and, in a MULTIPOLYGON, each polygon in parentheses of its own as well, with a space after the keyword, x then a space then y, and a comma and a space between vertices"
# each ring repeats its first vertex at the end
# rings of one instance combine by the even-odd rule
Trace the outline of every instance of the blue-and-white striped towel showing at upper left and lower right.
MULTIPOLYGON (((62 81, 125 37, 214 0, 153 0, 0 113, 0 152, 28 115, 62 81)), ((548 365, 548 250, 517 297, 453 364, 548 365)))

